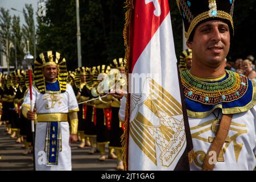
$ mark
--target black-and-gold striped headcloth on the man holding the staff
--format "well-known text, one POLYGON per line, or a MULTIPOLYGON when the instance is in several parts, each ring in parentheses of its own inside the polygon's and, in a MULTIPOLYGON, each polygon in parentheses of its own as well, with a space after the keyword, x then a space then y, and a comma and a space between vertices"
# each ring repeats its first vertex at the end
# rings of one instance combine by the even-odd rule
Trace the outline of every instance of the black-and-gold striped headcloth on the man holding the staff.
POLYGON ((67 65, 65 58, 61 56, 59 52, 47 51, 40 53, 40 55, 36 57, 34 64, 34 81, 40 93, 46 93, 46 84, 42 73, 42 68, 46 65, 57 65, 57 80, 60 84, 60 92, 63 93, 66 91, 68 78, 67 65))

